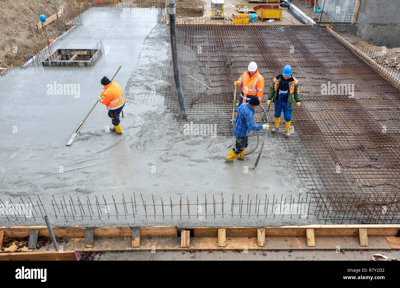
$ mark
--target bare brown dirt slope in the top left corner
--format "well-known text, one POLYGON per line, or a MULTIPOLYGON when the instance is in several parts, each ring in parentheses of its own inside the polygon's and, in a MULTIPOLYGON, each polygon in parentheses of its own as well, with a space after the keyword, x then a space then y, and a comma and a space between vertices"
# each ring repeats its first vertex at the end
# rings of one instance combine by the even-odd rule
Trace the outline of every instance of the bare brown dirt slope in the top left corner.
MULTIPOLYGON (((68 22, 73 15, 78 13, 78 3, 75 0, 57 0, 57 9, 64 12, 60 17, 62 22, 68 22)), ((56 14, 53 0, 40 0, 40 12, 47 18, 56 14)), ((32 39, 28 26, 32 26, 35 32, 43 34, 43 29, 38 30, 39 22, 38 4, 34 0, 2 1, 0 5, 2 15, 2 27, 0 30, 0 60, 6 64, 14 59, 23 60, 24 56, 32 54, 32 39)), ((46 33, 51 36, 55 30, 59 30, 58 21, 46 25, 46 33)))

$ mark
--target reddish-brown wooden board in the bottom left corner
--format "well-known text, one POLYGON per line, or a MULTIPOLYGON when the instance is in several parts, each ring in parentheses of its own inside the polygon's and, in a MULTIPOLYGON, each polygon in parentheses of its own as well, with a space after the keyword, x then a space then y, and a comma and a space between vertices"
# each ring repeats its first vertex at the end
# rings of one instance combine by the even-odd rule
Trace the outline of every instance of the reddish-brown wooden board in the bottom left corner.
POLYGON ((41 252, 15 252, 15 253, 0 253, 0 261, 14 260, 14 261, 77 261, 75 251, 41 251, 41 252))

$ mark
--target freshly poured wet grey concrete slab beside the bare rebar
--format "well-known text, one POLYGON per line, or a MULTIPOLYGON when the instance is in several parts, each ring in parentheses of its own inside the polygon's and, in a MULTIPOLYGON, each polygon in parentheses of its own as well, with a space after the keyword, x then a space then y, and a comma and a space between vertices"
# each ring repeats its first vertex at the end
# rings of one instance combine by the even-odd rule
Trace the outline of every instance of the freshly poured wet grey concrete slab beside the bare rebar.
MULTIPOLYGON (((247 156, 244 162, 224 163, 233 137, 184 134, 184 127, 165 109, 159 94, 166 85, 160 76, 160 61, 166 57, 170 47, 164 41, 169 33, 168 26, 156 25, 156 12, 150 9, 90 8, 83 14, 84 25, 59 46, 91 48, 102 40, 105 56, 94 67, 30 68, 2 79, 0 85, 4 95, 13 97, 7 106, 0 108, 7 115, 0 127, 0 156, 3 159, 0 199, 6 202, 10 198, 18 203, 20 197, 27 202, 29 196, 36 204, 36 195, 39 195, 53 226, 282 226, 319 223, 313 215, 314 209, 310 209, 308 218, 305 211, 301 217, 291 217, 290 213, 282 216, 280 213, 281 197, 282 202, 285 199, 289 202, 292 195, 297 199, 301 193, 305 200, 308 190, 306 183, 297 177, 294 156, 286 151, 279 138, 268 139, 257 169, 251 171, 248 168, 254 165, 255 153, 247 156), (121 85, 126 97, 125 117, 121 118, 123 135, 108 133, 111 121, 106 107, 98 104, 72 146, 66 147, 72 132, 102 91, 100 79, 104 75, 111 78, 120 65, 122 69, 115 81, 121 85), (79 97, 48 95, 48 85, 54 81, 79 84, 79 97), (117 219, 112 197, 116 203, 122 203, 123 194, 126 202, 130 202, 134 191, 135 217, 130 210, 131 203, 126 207, 126 217, 122 204, 117 204, 117 219), (140 194, 146 201, 147 211, 140 194), (68 205, 64 207, 66 211, 60 207, 63 195, 68 205), (92 215, 98 214, 94 205, 95 195, 100 202, 101 220, 92 215), (234 216, 228 217, 231 216, 233 195, 234 216), (239 195, 244 203, 241 218, 239 195), (104 205, 102 196, 108 205, 112 203, 110 207, 104 205), (197 196, 200 207, 197 207, 197 196), (205 218, 205 196, 208 218, 205 218), (256 199, 261 201, 260 215, 264 215, 266 196, 269 203, 278 198, 278 209, 274 209, 276 217, 271 204, 268 218, 257 217, 254 203, 256 199), (71 215, 69 197, 76 205, 75 219, 71 215), (86 199, 94 205, 90 215, 86 210, 81 217, 77 197, 84 206, 86 199), (172 200, 174 218, 162 216, 161 197, 164 205, 169 205, 172 200), (210 217, 214 214, 213 197, 216 201, 215 218, 210 217), (224 218, 221 216, 222 197, 224 218), (58 207, 52 206, 53 199, 58 207), (153 199, 158 205, 156 217, 151 216, 154 215, 153 199), (250 216, 245 206, 247 199, 252 201, 250 216), (190 201, 190 218, 187 201, 190 201), (111 215, 114 213, 110 219, 107 209, 111 215), (198 209, 199 218, 194 216, 198 209), (146 213, 150 215, 147 219, 146 213)), ((251 137, 249 147, 254 147, 255 141, 256 137, 251 137)), ((164 207, 166 215, 170 215, 168 209, 170 207, 164 207)), ((36 220, 25 220, 23 215, 18 221, 9 218, 0 215, 0 226, 44 225, 39 211, 36 220)))

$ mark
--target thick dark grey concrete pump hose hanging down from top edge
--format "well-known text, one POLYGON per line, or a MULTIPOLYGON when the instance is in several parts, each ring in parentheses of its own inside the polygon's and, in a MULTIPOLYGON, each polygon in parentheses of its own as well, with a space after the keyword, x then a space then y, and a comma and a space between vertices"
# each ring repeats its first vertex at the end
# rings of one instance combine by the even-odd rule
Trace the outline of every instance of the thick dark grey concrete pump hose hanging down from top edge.
POLYGON ((178 94, 178 102, 182 118, 187 119, 185 101, 183 99, 182 86, 180 84, 179 66, 178 66, 178 53, 176 51, 176 14, 175 14, 175 0, 168 0, 168 14, 170 17, 170 34, 171 34, 171 52, 172 52, 172 65, 174 66, 174 78, 176 93, 178 94))

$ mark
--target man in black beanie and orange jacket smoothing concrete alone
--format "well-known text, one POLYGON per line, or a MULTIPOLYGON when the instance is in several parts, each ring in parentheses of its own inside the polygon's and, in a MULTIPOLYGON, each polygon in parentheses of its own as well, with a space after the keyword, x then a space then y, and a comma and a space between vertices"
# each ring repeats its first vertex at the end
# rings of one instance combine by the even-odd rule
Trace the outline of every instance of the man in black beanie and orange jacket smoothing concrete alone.
POLYGON ((125 97, 122 89, 117 82, 111 82, 106 76, 101 81, 104 86, 104 91, 100 93, 97 100, 106 105, 108 109, 108 117, 111 118, 113 126, 110 127, 111 131, 116 131, 117 134, 122 134, 120 127, 120 113, 125 105, 125 97))

